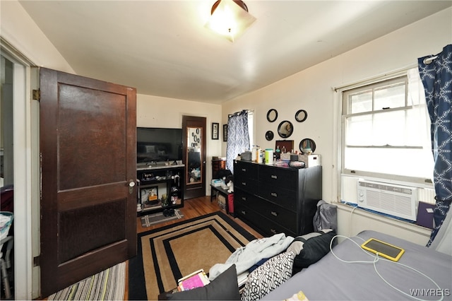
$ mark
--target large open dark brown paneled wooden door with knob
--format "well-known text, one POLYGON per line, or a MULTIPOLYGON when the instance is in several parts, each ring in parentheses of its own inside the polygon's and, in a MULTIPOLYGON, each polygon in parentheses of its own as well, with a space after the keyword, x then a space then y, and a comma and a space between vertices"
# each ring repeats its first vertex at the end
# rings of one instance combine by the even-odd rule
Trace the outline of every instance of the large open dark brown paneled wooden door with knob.
POLYGON ((41 295, 136 255, 136 89, 40 69, 41 295))

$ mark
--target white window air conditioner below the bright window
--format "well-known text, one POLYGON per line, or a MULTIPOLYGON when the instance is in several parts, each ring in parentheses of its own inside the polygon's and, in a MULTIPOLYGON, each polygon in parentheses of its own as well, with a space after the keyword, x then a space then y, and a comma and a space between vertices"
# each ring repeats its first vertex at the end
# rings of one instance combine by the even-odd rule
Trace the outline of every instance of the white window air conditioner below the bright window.
POLYGON ((358 206, 391 216, 416 220, 417 188, 358 181, 358 206))

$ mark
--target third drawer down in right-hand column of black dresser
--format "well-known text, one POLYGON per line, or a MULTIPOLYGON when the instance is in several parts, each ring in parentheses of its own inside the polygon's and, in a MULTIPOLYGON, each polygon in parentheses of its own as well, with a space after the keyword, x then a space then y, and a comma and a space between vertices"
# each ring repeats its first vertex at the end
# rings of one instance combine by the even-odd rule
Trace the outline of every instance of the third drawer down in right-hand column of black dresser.
POLYGON ((277 206, 273 203, 269 203, 263 199, 251 208, 256 210, 262 216, 268 218, 277 225, 282 225, 284 228, 297 232, 297 213, 288 211, 287 209, 277 206))

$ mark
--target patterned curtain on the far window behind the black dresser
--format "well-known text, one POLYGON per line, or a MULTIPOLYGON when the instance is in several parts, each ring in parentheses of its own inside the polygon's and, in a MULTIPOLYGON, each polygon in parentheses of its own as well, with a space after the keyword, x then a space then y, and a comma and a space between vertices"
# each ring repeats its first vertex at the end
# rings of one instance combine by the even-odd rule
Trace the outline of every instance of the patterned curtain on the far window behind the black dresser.
POLYGON ((248 112, 233 114, 227 120, 226 167, 234 173, 234 159, 249 150, 248 112))

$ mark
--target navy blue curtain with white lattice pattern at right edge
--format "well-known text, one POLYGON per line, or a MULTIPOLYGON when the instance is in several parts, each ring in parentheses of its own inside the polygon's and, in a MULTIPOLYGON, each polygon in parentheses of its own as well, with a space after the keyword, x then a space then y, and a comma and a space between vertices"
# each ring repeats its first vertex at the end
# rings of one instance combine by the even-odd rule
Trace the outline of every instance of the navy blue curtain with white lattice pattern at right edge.
POLYGON ((436 56, 421 57, 418 64, 432 122, 430 131, 435 162, 435 228, 427 243, 429 247, 441 228, 452 201, 452 45, 444 47, 443 52, 436 56))

